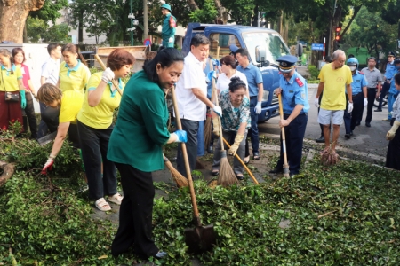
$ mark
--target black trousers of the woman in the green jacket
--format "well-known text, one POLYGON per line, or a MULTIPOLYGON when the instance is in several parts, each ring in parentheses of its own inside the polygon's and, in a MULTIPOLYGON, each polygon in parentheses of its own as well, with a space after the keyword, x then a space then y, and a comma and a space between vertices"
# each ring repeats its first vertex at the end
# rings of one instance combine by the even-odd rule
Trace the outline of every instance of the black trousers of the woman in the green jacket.
POLYGON ((116 163, 121 174, 124 199, 119 208, 119 226, 111 246, 111 254, 126 252, 147 259, 158 253, 152 238, 153 200, 155 190, 151 172, 142 172, 131 165, 116 163))

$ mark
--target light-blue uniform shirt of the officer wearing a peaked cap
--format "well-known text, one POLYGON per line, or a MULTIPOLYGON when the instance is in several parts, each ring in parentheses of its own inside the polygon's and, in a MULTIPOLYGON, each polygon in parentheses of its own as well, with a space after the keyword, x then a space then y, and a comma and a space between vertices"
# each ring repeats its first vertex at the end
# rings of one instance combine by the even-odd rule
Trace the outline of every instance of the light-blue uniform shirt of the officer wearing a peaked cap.
POLYGON ((303 106, 300 113, 308 113, 307 81, 299 73, 294 72, 289 81, 286 81, 284 75, 281 74, 279 77, 279 87, 282 88, 284 113, 292 113, 296 105, 303 106))

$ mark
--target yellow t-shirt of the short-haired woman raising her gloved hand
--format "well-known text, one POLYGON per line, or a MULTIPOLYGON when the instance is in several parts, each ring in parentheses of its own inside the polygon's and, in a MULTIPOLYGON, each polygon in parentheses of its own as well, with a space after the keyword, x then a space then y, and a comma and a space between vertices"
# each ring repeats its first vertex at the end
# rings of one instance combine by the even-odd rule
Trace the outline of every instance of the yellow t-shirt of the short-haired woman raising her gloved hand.
MULTIPOLYGON (((88 102, 89 91, 96 90, 101 82, 102 72, 92 74, 87 83, 87 90, 84 94, 84 105, 77 119, 93 129, 108 129, 113 122, 113 112, 121 102, 121 95, 117 90, 111 91, 111 82, 104 89, 103 96, 97 106, 91 107, 88 102)), ((119 80, 119 89, 124 89, 124 82, 119 80)))

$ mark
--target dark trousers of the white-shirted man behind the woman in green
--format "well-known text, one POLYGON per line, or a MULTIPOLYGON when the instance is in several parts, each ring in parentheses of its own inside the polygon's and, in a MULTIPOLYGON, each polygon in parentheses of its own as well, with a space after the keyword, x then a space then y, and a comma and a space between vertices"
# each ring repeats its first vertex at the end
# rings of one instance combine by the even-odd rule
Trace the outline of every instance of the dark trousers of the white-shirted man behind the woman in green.
MULTIPOLYGON (((196 168, 198 121, 180 119, 180 122, 182 123, 182 129, 185 130, 188 135, 188 142, 186 143, 186 151, 188 152, 188 161, 191 172, 196 168)), ((185 168, 185 160, 183 160, 181 144, 178 144, 176 166, 177 170, 180 172, 180 175, 186 176, 188 178, 185 168)))

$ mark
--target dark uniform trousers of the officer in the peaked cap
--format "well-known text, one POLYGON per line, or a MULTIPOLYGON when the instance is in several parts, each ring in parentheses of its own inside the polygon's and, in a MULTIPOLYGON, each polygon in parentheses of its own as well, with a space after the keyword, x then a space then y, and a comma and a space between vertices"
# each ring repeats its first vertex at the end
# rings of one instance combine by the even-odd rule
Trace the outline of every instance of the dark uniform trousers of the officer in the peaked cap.
MULTIPOLYGON (((284 119, 290 114, 284 113, 284 119)), ((297 175, 301 169, 301 155, 303 151, 303 139, 306 133, 308 121, 307 113, 300 113, 291 123, 284 127, 284 137, 286 141, 286 156, 289 164, 290 175, 297 175)), ((281 133, 281 155, 276 163, 277 169, 284 168, 284 151, 282 147, 281 133)))

